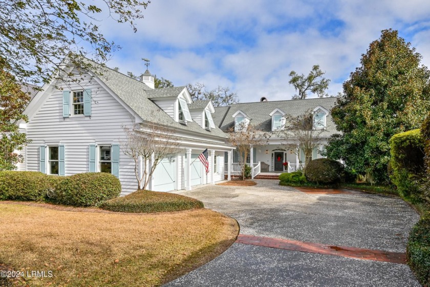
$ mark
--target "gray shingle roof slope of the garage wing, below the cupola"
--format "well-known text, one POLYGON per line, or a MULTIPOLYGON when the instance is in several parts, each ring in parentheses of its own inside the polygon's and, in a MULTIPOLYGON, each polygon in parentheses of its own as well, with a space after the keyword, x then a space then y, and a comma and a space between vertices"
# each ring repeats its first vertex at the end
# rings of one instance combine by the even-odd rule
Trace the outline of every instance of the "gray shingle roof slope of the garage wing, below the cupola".
POLYGON ((188 122, 187 125, 180 124, 149 99, 149 97, 153 95, 159 95, 160 97, 174 95, 175 93, 179 95, 184 87, 147 90, 148 87, 139 80, 128 77, 112 69, 101 67, 94 62, 92 64, 94 65, 93 69, 97 70, 97 77, 144 121, 154 122, 155 124, 169 126, 178 130, 222 138, 226 137, 226 134, 218 127, 208 131, 203 129, 195 121, 188 122))

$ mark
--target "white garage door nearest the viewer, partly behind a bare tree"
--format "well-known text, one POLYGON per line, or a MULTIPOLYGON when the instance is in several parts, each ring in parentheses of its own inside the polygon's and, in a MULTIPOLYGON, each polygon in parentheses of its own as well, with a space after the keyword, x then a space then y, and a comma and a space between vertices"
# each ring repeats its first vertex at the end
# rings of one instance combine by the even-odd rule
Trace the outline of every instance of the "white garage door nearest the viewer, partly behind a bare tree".
POLYGON ((176 162, 174 160, 169 161, 168 158, 164 158, 160 161, 157 168, 154 171, 154 191, 170 191, 175 190, 176 181, 176 162))

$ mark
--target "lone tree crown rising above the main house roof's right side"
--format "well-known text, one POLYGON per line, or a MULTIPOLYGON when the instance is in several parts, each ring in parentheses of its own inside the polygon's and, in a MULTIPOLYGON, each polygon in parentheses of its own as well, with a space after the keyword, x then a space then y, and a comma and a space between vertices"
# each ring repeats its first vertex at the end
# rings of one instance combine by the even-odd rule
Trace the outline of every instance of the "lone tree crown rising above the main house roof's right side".
POLYGON ((318 97, 328 96, 326 90, 329 87, 330 80, 322 76, 325 73, 321 71, 319 65, 314 65, 307 76, 291 71, 291 79, 288 83, 293 85, 296 92, 298 92, 293 96, 293 99, 305 99, 308 96, 308 92, 312 92, 318 97))

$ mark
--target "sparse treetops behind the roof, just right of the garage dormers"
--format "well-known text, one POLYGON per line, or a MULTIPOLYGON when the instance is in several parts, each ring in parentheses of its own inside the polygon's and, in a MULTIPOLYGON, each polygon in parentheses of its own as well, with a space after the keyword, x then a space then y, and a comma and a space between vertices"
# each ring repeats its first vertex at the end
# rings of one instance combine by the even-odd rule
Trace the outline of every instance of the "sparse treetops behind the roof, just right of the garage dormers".
POLYGON ((218 86, 216 89, 207 91, 204 84, 196 83, 194 85, 188 84, 187 88, 193 100, 210 99, 215 107, 239 103, 238 94, 231 92, 229 87, 218 86))

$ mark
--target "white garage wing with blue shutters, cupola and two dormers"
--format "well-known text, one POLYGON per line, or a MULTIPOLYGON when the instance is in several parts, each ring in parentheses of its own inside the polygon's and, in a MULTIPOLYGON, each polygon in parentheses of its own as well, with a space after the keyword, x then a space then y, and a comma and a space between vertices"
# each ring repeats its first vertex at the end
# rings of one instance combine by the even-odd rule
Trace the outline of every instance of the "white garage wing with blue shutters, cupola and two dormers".
MULTIPOLYGON (((33 97, 24 111, 28 123, 18 122, 32 140, 22 151, 25 161, 18 170, 60 176, 110 172, 121 181, 122 194, 131 193, 137 189, 135 162, 121 152, 123 128, 144 130, 152 123, 173 129, 181 150, 161 161, 148 189, 190 190, 224 179, 221 163, 234 148, 212 120, 211 101, 193 102, 186 87, 154 89, 149 71, 136 80, 93 64, 85 69, 68 66, 68 74, 77 80, 52 80, 33 97), (198 159, 205 149, 208 174, 198 159)), ((140 173, 141 163, 138 168, 140 173)))

